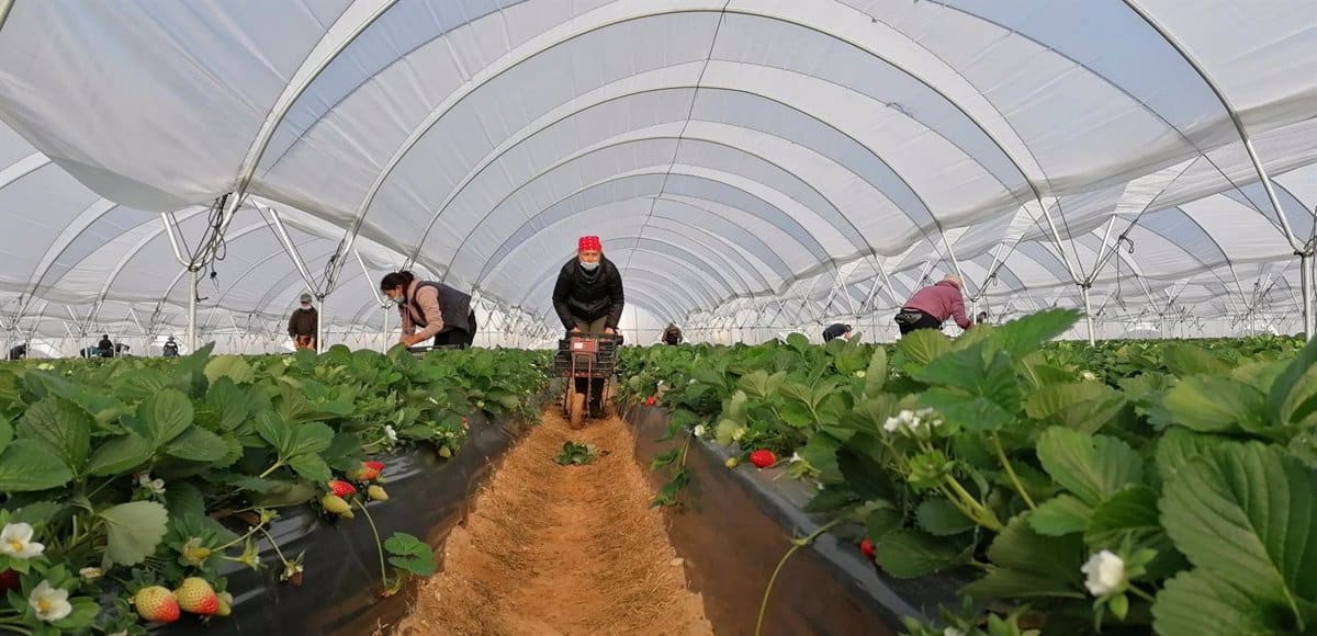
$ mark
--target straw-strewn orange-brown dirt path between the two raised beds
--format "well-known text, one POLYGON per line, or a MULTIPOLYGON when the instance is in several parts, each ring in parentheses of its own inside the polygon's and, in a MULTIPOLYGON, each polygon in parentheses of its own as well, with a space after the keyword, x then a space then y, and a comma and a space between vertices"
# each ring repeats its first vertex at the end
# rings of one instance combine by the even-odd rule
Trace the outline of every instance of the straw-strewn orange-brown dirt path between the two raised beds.
POLYGON ((632 448, 618 419, 570 431, 549 408, 453 531, 445 571, 396 633, 711 635, 632 448), (611 453, 560 466, 569 440, 611 453))

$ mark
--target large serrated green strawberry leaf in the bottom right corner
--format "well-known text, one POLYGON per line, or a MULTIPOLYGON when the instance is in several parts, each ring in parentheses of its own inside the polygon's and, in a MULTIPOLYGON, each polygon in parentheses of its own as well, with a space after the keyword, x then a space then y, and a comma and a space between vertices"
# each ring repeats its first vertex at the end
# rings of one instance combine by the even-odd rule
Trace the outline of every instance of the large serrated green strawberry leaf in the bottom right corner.
POLYGON ((1160 633, 1300 633, 1317 627, 1317 473, 1283 450, 1231 444, 1166 485, 1162 523, 1195 570, 1152 608, 1160 633), (1204 616, 1220 619, 1210 629, 1204 616), (1188 629, 1188 631, 1187 631, 1188 629))

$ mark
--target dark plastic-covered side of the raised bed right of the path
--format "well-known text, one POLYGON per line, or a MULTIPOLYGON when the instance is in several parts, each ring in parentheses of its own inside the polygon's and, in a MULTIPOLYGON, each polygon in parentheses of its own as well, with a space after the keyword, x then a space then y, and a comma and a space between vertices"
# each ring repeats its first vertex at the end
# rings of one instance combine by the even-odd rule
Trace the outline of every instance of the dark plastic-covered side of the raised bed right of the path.
MULTIPOLYGON (((793 537, 817 532, 820 523, 802 512, 814 492, 780 470, 744 465, 728 470, 739 453, 715 442, 668 435, 669 413, 631 407, 624 413, 636 436, 636 461, 685 449, 680 506, 668 508, 668 535, 685 558, 686 575, 705 599, 705 614, 719 636, 753 635, 760 606, 780 558, 793 537), (686 445, 689 440, 689 446, 686 445)), ((670 470, 651 471, 662 489, 670 470)), ((901 616, 931 612, 955 600, 964 581, 955 575, 892 579, 880 574, 857 548, 856 528, 824 532, 782 566, 764 611, 763 636, 898 633, 901 616), (849 532, 847 532, 849 531, 849 532)))

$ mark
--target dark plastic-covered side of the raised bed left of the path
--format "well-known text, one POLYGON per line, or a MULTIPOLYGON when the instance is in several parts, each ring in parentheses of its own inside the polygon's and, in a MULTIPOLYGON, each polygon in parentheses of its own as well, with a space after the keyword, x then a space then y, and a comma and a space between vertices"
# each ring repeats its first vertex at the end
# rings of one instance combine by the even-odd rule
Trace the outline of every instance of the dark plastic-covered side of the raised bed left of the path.
POLYGON ((374 528, 360 512, 331 519, 309 507, 292 508, 270 525, 278 552, 269 541, 258 543, 261 570, 230 562, 220 571, 233 594, 230 616, 203 625, 179 622, 157 632, 274 635, 298 625, 296 633, 365 635, 396 625, 415 600, 417 579, 386 595, 379 541, 404 532, 441 556, 449 532, 474 507, 477 489, 527 427, 523 419, 483 413, 469 421, 470 436, 452 458, 429 449, 378 457, 387 466, 389 500, 366 504, 374 528), (300 583, 284 579, 281 553, 306 554, 300 583))

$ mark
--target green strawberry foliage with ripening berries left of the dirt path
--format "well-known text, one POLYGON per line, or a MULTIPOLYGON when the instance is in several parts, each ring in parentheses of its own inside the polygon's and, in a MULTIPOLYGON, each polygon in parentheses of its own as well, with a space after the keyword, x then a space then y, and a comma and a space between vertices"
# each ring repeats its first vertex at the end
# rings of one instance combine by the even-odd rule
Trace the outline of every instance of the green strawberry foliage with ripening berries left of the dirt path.
MULTIPOLYGON (((336 346, 8 365, 0 629, 138 633, 142 622, 223 620, 233 611, 223 573, 263 568, 262 544, 282 561, 279 579, 298 585, 316 556, 275 543, 281 510, 309 504, 374 531, 366 502, 389 495, 387 460, 373 456, 428 446, 452 457, 469 413, 529 412, 547 362, 539 352, 417 359, 336 346)), ((392 545, 395 566, 427 571, 428 546, 404 546, 402 535, 379 543, 382 564, 392 545)), ((382 566, 381 587, 395 590, 402 574, 382 566)))

